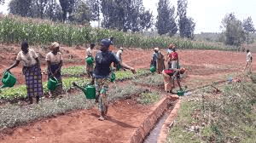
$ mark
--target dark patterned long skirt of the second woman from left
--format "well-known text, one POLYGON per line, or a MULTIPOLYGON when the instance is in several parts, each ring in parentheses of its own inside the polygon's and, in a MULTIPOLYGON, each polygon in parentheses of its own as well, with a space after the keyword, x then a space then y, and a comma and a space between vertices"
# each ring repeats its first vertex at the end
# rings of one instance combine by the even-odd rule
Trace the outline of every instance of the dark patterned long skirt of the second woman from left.
MULTIPOLYGON (((50 74, 50 72, 54 73, 56 69, 58 69, 61 65, 60 64, 55 64, 55 65, 50 65, 50 70, 49 71, 49 77, 51 77, 52 75, 50 74)), ((60 70, 61 71, 61 70, 60 70)), ((62 89, 62 79, 61 79, 61 72, 58 71, 55 74, 55 77, 58 79, 59 84, 57 85, 56 89, 54 91, 51 91, 51 94, 53 97, 56 97, 59 94, 62 94, 63 89, 62 89)), ((48 78, 49 78, 48 77, 48 78)))

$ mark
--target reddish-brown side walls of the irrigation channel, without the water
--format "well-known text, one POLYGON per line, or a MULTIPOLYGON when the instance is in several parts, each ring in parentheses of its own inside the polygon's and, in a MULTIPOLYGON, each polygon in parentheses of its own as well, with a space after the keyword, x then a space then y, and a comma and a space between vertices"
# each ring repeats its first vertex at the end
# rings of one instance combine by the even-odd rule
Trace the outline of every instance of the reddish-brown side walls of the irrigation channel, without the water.
MULTIPOLYGON (((149 140, 149 142, 166 142, 166 137, 168 134, 168 129, 172 126, 175 117, 177 117, 177 110, 180 107, 179 97, 175 94, 167 95, 164 99, 160 100, 153 108, 153 112, 148 113, 148 117, 145 117, 143 123, 133 132, 129 143, 142 143, 148 134, 154 129, 155 123, 157 123, 162 115, 168 110, 170 106, 174 106, 172 112, 167 116, 166 121, 162 124, 160 128, 160 134, 157 139, 149 140), (172 103, 175 103, 172 105, 172 103)), ((155 134, 154 134, 155 136, 155 134)), ((148 141, 147 141, 148 142, 148 141)))

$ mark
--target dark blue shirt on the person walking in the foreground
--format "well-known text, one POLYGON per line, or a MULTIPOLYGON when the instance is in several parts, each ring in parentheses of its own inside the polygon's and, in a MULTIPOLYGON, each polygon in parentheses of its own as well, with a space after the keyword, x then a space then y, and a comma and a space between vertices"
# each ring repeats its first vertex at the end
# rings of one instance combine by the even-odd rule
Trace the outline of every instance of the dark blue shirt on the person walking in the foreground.
POLYGON ((110 73, 110 65, 114 62, 119 63, 118 57, 110 51, 102 52, 96 54, 96 67, 94 70, 94 77, 104 78, 108 77, 110 73))

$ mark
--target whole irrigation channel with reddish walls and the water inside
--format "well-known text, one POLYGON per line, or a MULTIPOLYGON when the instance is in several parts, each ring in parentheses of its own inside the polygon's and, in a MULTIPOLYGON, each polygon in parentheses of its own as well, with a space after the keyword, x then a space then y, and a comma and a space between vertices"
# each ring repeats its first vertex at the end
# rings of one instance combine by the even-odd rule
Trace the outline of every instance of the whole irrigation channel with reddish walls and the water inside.
POLYGON ((164 143, 168 130, 172 127, 180 100, 177 95, 166 96, 148 113, 143 123, 134 131, 130 143, 164 143))

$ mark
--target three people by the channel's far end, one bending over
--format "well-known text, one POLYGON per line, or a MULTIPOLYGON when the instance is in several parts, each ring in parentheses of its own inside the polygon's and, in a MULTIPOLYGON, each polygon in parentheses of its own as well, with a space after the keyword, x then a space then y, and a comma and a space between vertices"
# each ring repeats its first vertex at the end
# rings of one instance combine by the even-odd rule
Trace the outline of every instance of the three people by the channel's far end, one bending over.
POLYGON ((165 91, 171 93, 172 89, 175 88, 174 81, 177 81, 177 85, 180 90, 182 90, 180 85, 180 74, 183 74, 186 69, 180 68, 178 63, 178 55, 176 51, 176 46, 169 44, 166 55, 167 68, 165 66, 164 54, 160 52, 159 48, 154 48, 154 54, 152 55, 152 60, 150 66, 154 66, 156 72, 162 73, 165 83, 165 91))

